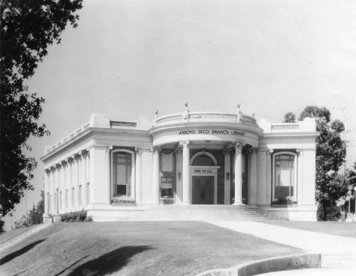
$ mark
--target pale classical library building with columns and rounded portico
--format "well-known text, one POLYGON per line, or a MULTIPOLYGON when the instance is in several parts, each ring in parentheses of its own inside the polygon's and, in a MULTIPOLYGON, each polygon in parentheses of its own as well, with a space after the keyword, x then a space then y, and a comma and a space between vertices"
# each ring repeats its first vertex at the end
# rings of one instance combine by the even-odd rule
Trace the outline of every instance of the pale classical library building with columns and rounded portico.
POLYGON ((123 221, 215 206, 316 221, 316 137, 313 118, 257 122, 240 105, 190 112, 186 103, 132 122, 93 114, 45 149, 43 216, 83 209, 93 221, 123 221))

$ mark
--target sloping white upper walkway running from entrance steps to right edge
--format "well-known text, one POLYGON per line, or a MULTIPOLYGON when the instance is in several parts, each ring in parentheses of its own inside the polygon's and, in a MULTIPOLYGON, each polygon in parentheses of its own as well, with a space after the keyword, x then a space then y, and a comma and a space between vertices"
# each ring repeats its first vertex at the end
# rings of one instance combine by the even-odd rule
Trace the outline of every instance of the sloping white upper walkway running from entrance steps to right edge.
POLYGON ((356 255, 355 238, 285 228, 254 221, 209 221, 209 223, 301 248, 307 253, 356 255))

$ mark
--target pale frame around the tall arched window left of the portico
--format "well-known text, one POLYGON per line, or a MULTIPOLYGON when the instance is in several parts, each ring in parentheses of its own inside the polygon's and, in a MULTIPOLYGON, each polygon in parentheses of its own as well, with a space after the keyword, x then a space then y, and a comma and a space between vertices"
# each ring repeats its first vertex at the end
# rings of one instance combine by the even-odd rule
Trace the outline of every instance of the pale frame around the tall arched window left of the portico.
POLYGON ((130 149, 114 149, 110 152, 110 169, 111 169, 111 197, 112 198, 135 198, 135 152, 132 152, 130 149), (130 181, 130 196, 127 196, 127 191, 129 191, 126 187, 126 195, 117 195, 115 192, 116 185, 114 179, 114 154, 116 153, 125 153, 131 154, 131 181, 130 181))

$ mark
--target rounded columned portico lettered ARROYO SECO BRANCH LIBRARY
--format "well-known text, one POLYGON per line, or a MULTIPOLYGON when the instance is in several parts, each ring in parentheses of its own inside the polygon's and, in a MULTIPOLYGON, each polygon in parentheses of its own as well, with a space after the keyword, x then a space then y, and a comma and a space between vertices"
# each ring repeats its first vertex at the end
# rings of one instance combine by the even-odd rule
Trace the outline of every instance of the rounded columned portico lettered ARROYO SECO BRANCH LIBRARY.
MULTIPOLYGON (((176 158, 173 168, 182 181, 176 179, 175 193, 172 193, 176 198, 171 203, 244 205, 243 149, 247 154, 247 149, 257 147, 262 134, 253 116, 243 115, 239 106, 236 114, 226 114, 189 112, 186 105, 182 114, 157 117, 150 134, 155 150, 154 187, 160 185, 157 148, 182 150, 182 159, 176 158), (231 196, 234 196, 232 202, 231 196)), ((157 193, 157 189, 154 192, 157 193)), ((162 195, 161 199, 164 200, 162 195)), ((166 202, 169 201, 164 200, 166 202)))

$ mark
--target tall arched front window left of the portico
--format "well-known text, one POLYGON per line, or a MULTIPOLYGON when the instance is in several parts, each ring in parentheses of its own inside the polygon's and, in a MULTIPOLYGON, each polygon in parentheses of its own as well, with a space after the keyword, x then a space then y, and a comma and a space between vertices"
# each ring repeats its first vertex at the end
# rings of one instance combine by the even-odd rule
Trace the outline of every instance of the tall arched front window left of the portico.
POLYGON ((134 196, 131 194, 135 172, 133 152, 118 149, 112 152, 112 196, 134 196))

